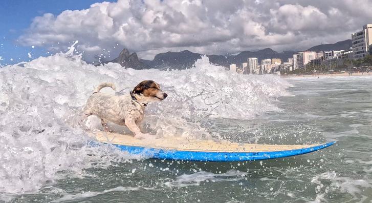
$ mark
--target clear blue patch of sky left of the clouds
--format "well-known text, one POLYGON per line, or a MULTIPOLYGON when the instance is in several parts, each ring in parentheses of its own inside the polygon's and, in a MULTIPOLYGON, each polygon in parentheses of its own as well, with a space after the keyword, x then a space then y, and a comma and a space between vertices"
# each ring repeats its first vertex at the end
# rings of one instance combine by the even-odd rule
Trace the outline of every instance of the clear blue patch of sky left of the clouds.
MULTIPOLYGON (((48 55, 43 48, 24 47, 16 40, 24 33, 32 19, 44 13, 58 15, 64 10, 86 9, 100 0, 3 0, 0 3, 0 64, 15 64, 29 61, 32 57, 48 55), (13 60, 11 60, 11 58, 13 60)), ((114 2, 114 1, 105 1, 114 2)))

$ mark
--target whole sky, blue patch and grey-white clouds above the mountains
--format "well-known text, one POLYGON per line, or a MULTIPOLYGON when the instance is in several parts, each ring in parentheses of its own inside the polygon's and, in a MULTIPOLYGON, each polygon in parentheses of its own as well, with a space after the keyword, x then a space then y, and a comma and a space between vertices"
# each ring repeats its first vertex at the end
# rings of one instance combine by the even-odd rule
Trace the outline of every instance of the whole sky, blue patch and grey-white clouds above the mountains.
POLYGON ((113 59, 124 47, 145 59, 182 50, 304 50, 350 39, 372 23, 370 8, 372 0, 5 0, 0 63, 65 51, 75 40, 87 61, 113 59))

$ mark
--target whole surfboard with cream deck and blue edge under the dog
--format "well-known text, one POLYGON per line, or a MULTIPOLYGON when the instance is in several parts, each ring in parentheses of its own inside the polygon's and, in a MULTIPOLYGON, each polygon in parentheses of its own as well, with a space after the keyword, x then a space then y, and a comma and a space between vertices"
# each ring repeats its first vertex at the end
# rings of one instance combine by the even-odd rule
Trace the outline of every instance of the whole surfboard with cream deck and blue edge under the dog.
POLYGON ((314 145, 260 145, 182 137, 137 139, 133 135, 102 131, 89 134, 96 139, 97 143, 112 144, 129 154, 190 161, 250 161, 282 158, 314 152, 336 143, 331 141, 314 145))

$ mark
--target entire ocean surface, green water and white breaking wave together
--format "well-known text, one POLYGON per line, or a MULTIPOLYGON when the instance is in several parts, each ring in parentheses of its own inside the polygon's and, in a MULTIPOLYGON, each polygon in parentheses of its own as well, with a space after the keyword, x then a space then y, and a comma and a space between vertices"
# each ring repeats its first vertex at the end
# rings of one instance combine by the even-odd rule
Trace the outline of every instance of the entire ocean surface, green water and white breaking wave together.
MULTIPOLYGON (((73 49, 73 48, 72 48, 73 49)), ((0 201, 370 202, 372 77, 237 75, 207 57, 189 70, 94 67, 73 50, 0 69, 0 201), (90 146, 76 123, 100 82, 127 93, 154 79, 169 95, 146 109, 158 136, 336 145, 234 163, 147 159, 90 146)), ((104 90, 114 94, 111 90, 104 90)), ((124 128, 111 126, 116 131, 124 128)))

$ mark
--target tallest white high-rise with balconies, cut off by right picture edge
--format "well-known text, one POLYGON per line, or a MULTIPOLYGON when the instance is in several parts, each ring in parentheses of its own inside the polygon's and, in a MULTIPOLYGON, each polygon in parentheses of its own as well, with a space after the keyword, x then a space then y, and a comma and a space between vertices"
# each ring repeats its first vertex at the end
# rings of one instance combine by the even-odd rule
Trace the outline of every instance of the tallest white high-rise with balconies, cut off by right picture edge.
POLYGON ((359 32, 352 34, 353 58, 364 58, 372 47, 372 24, 363 26, 359 32))

